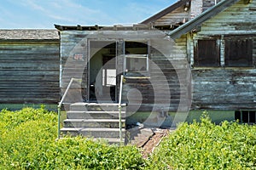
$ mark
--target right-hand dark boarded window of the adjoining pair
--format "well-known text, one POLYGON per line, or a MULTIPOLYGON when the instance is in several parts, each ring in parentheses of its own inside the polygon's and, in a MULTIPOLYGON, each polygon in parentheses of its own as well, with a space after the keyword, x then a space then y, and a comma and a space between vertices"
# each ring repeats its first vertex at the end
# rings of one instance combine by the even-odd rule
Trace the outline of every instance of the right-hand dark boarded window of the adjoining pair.
POLYGON ((226 66, 252 66, 253 41, 251 39, 225 40, 226 66))

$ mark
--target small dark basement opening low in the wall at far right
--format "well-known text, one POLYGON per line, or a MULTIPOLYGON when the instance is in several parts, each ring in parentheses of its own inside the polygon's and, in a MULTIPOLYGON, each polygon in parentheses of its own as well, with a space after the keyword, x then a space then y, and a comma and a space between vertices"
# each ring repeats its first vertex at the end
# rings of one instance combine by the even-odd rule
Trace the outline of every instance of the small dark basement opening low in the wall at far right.
POLYGON ((256 111, 235 111, 235 120, 242 123, 255 123, 256 111))

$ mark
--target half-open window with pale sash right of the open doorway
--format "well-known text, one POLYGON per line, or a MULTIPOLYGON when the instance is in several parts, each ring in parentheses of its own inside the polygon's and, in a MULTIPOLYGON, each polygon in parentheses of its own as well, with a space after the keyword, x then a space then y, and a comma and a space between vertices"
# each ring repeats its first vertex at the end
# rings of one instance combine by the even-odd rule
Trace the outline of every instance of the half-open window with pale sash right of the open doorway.
POLYGON ((125 75, 147 73, 148 57, 148 42, 125 42, 125 75))

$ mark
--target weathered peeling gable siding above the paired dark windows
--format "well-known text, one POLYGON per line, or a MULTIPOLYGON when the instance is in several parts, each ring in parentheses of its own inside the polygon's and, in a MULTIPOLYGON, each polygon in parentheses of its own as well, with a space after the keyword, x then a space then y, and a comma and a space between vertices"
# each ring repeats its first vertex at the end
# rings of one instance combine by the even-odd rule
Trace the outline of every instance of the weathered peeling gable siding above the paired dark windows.
POLYGON ((207 20, 201 26, 200 35, 237 35, 256 33, 256 2, 240 1, 222 13, 207 20))

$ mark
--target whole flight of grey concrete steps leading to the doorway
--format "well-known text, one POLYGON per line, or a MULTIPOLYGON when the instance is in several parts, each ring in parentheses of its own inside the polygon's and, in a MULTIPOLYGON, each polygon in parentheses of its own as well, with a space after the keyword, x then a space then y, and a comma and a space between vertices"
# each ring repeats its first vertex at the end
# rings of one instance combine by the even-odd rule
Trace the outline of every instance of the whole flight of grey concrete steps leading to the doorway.
POLYGON ((107 140, 108 143, 125 143, 125 106, 118 103, 86 103, 78 102, 70 105, 67 119, 61 133, 72 136, 91 136, 94 139, 107 140), (121 111, 119 111, 121 110, 121 111), (122 136, 119 139, 119 113, 122 123, 122 136))

